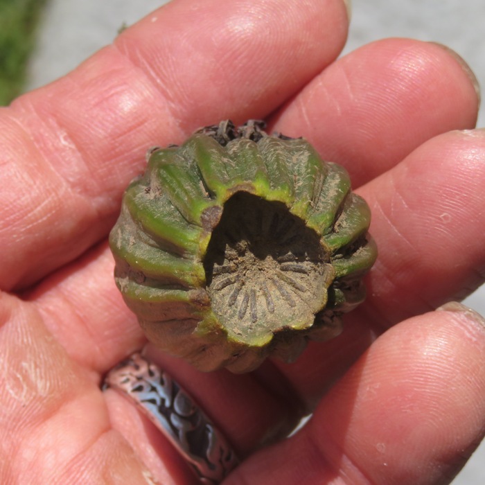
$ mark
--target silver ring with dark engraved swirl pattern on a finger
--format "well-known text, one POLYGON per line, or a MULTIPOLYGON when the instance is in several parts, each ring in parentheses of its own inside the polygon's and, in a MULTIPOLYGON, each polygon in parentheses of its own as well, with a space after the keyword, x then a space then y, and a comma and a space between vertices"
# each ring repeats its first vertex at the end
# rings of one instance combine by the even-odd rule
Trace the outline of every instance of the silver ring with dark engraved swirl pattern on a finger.
POLYGON ((221 432, 170 375, 134 353, 114 367, 103 389, 121 391, 170 440, 202 484, 218 484, 238 464, 221 432))

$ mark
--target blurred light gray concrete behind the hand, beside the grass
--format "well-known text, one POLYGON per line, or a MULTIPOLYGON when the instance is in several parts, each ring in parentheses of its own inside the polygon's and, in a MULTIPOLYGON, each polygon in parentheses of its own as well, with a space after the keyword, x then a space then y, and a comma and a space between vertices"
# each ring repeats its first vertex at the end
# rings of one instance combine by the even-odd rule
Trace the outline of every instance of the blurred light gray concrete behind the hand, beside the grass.
MULTIPOLYGON (((51 0, 30 65, 30 87, 44 85, 76 67, 132 24, 166 1, 51 0)), ((414 37, 455 49, 485 87, 485 2, 483 0, 354 0, 344 52, 382 37, 414 37)), ((478 126, 485 126, 482 110, 478 126)), ((485 288, 466 303, 485 315, 485 288)), ((485 484, 485 443, 453 485, 485 484)))

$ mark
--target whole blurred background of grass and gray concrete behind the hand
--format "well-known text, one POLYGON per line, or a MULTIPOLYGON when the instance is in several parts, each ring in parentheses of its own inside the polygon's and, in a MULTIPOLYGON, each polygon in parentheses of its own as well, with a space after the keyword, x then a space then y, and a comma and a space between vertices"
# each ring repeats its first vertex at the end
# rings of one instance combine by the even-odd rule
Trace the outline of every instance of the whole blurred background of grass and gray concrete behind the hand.
MULTIPOLYGON (((75 68, 163 0, 0 0, 0 105, 75 68)), ((353 49, 382 37, 441 42, 457 51, 485 87, 483 0, 354 0, 353 49)), ((485 110, 477 126, 485 127, 485 110)), ((485 287, 465 303, 485 315, 485 287)), ((453 485, 485 484, 485 443, 453 485)))

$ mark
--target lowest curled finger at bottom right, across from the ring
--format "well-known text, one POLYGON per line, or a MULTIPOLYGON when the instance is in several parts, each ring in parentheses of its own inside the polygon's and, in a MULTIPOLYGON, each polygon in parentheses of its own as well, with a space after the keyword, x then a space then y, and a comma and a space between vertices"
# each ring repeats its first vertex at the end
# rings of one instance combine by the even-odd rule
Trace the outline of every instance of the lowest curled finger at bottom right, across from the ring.
POLYGON ((445 310, 382 335, 301 432, 227 484, 450 483, 484 435, 485 321, 445 310))

